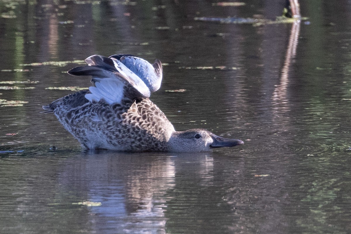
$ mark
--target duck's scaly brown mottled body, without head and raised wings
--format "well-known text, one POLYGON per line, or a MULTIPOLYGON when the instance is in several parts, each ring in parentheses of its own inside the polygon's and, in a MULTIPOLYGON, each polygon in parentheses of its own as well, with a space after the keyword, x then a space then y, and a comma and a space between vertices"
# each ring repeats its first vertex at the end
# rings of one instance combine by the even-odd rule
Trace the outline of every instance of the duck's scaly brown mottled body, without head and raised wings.
POLYGON ((166 151, 173 125, 148 98, 88 101, 80 91, 44 106, 88 149, 166 151))

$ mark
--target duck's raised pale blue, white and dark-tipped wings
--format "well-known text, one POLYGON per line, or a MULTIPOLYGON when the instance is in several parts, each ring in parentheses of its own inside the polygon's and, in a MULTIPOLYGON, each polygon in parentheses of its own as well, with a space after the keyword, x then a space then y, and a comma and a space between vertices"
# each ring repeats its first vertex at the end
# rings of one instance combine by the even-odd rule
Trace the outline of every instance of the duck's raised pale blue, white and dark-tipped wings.
POLYGON ((89 87, 91 93, 85 95, 88 100, 98 101, 104 98, 108 103, 114 103, 120 102, 124 97, 130 99, 148 98, 151 92, 160 87, 161 62, 157 63, 158 70, 156 70, 143 59, 131 55, 120 56, 117 57, 118 59, 114 56, 107 58, 101 55, 92 55, 85 59, 88 65, 75 67, 68 71, 71 75, 93 76, 91 81, 95 86, 89 87), (125 58, 128 58, 128 62, 125 58), (129 61, 130 59, 137 62, 132 63, 129 61), (133 68, 132 64, 136 68, 133 68), (149 72, 150 70, 151 72, 149 72), (158 79, 154 78, 156 74, 160 74, 158 79))

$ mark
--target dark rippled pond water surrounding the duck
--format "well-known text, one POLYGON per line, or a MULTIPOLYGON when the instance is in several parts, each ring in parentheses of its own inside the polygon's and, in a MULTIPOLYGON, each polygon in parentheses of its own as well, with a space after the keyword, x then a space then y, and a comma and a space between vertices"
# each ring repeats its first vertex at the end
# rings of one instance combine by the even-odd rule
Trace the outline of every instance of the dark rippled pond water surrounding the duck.
POLYGON ((23 151, 0 153, 0 233, 351 232, 351 2, 301 1, 300 23, 194 20, 284 6, 216 3, 0 1, 0 151, 23 151), (166 63, 151 99, 177 130, 245 145, 82 152, 41 105, 89 86, 63 61, 115 53, 166 63))

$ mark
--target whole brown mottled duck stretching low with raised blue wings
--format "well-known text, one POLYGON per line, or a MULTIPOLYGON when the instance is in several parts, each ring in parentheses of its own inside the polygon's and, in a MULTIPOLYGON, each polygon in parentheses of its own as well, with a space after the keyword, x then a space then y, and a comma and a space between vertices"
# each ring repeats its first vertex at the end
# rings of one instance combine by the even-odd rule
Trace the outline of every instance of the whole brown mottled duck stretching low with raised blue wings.
POLYGON ((165 114, 150 101, 160 88, 162 65, 129 54, 85 60, 88 65, 68 71, 91 75, 94 86, 43 106, 88 149, 119 151, 208 151, 236 146, 241 140, 225 139, 204 129, 177 132, 165 114))

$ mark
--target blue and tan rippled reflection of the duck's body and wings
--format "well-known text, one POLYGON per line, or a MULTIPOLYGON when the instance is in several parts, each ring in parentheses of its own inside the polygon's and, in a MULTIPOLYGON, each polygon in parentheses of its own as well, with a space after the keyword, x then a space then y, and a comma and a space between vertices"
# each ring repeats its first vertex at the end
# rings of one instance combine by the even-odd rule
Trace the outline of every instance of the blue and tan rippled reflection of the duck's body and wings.
POLYGON ((164 195, 174 186, 175 173, 169 156, 104 153, 68 160, 68 165, 60 183, 102 203, 92 209, 91 222, 120 233, 164 230, 164 195))

